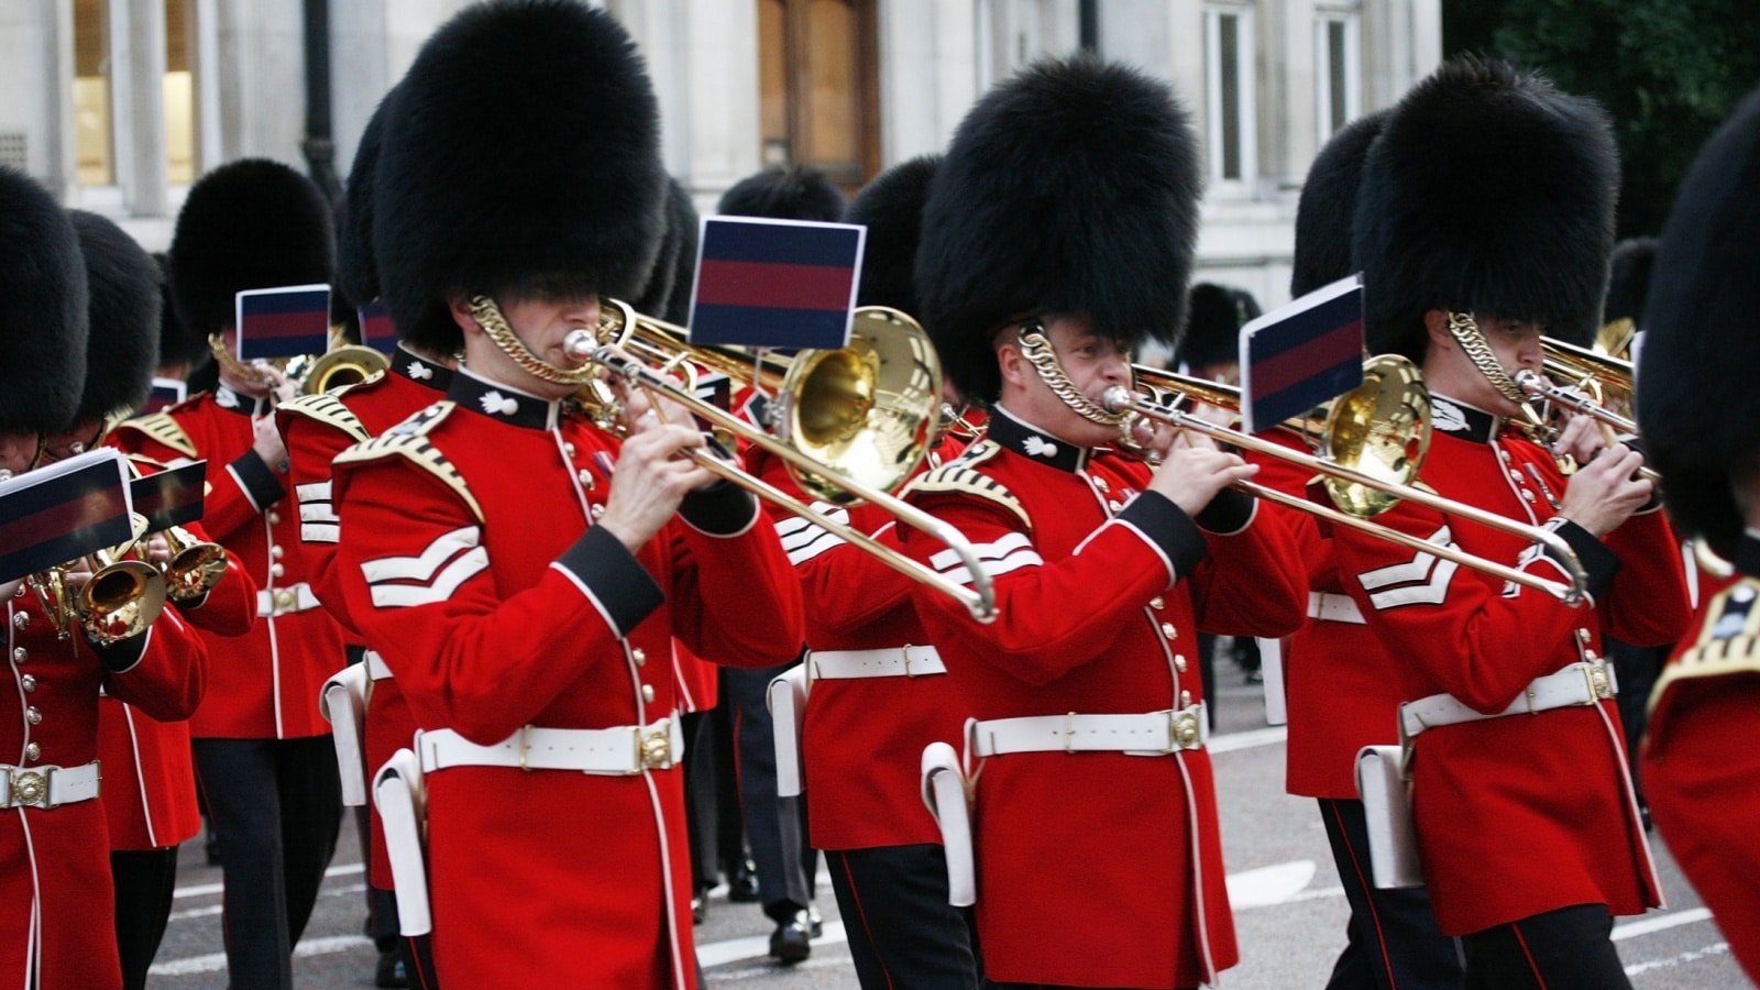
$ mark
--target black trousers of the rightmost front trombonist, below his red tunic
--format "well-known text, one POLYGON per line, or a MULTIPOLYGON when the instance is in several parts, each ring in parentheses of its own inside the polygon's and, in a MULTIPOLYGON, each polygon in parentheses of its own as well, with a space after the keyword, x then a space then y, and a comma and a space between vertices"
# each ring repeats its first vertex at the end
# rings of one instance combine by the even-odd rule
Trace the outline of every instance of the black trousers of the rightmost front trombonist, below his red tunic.
POLYGON ((1468 990, 1630 988, 1605 904, 1577 904, 1461 939, 1468 990))

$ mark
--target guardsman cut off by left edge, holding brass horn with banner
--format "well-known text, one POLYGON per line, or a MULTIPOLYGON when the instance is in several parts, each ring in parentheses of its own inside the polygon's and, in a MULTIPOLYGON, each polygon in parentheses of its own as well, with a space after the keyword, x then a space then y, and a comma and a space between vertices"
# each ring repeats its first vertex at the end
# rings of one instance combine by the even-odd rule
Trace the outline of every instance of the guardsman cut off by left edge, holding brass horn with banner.
MULTIPOLYGON (((35 180, 0 167, 0 476, 33 467, 77 414, 86 368, 86 268, 74 225, 35 180)), ((104 354, 97 356, 100 361, 104 354)), ((141 389, 144 393, 144 389, 141 389)), ((69 587, 81 581, 69 573, 69 587)), ((86 574, 88 576, 88 574, 86 574)), ((100 643, 62 636, 58 604, 30 581, 0 583, 7 691, 0 692, 0 985, 121 986, 109 837, 95 800, 99 696, 157 719, 195 710, 202 645, 174 608, 100 643)))

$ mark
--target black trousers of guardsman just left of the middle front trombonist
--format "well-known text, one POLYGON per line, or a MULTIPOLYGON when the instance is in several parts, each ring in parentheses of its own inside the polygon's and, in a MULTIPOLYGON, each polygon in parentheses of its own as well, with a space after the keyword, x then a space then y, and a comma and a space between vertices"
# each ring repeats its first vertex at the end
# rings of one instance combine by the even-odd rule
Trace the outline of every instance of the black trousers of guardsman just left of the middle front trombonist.
POLYGON ((947 904, 940 846, 827 849, 825 865, 862 990, 979 986, 970 928, 947 904))

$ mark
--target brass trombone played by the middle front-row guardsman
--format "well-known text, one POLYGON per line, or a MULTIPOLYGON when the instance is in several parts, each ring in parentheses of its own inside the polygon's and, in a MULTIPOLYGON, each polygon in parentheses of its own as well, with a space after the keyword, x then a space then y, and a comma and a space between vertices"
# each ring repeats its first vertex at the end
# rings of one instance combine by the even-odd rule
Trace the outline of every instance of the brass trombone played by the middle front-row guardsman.
MULTIPOLYGON (((1558 534, 1517 523, 1496 513, 1487 513, 1477 506, 1443 499, 1412 484, 1417 477, 1424 451, 1429 446, 1429 393, 1419 377, 1417 368, 1404 358, 1382 354, 1364 365, 1364 382, 1353 391, 1332 402, 1325 430, 1320 433, 1322 456, 1304 454, 1271 440, 1262 440, 1241 430, 1216 426, 1176 407, 1176 402, 1192 395, 1211 405, 1241 407, 1239 389, 1228 386, 1192 382, 1184 375, 1160 372, 1155 368, 1135 368, 1148 382, 1170 382, 1174 388, 1156 391, 1163 395, 1148 396, 1125 386, 1112 386, 1105 393, 1105 407, 1112 412, 1132 410, 1139 416, 1160 419, 1170 426, 1202 433, 1220 444, 1248 449, 1264 456, 1280 458, 1325 477, 1327 491, 1339 507, 1316 506, 1295 495, 1285 495, 1276 488, 1267 488, 1253 481, 1241 481, 1236 488, 1248 491, 1267 502, 1287 506, 1329 520, 1336 525, 1366 532, 1369 536, 1396 543, 1408 550, 1441 557, 1475 571, 1503 578, 1515 585, 1545 592, 1565 604, 1575 606, 1588 590, 1588 574, 1575 551, 1558 534), (1197 384, 1199 388, 1186 388, 1197 384), (1406 410, 1403 421, 1389 417, 1387 410, 1406 410), (1507 564, 1489 560, 1452 546, 1438 546, 1426 539, 1403 534, 1392 527, 1373 523, 1368 516, 1392 507, 1399 500, 1415 502, 1450 516, 1457 516, 1500 532, 1519 536, 1529 543, 1540 543, 1563 562, 1570 574, 1568 583, 1551 581, 1519 571, 1507 564)), ((1287 425, 1288 426, 1288 425, 1287 425)), ((1311 437, 1306 428, 1292 426, 1304 437, 1311 437)))

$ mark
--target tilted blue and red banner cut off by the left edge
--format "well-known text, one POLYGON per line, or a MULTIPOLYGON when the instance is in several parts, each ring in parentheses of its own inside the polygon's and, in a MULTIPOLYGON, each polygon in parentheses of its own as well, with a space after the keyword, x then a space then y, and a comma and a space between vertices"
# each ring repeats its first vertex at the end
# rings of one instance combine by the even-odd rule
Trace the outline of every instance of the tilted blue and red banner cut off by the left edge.
POLYGON ((127 463, 104 447, 0 483, 0 581, 128 543, 127 463))

